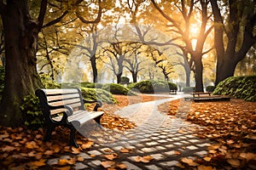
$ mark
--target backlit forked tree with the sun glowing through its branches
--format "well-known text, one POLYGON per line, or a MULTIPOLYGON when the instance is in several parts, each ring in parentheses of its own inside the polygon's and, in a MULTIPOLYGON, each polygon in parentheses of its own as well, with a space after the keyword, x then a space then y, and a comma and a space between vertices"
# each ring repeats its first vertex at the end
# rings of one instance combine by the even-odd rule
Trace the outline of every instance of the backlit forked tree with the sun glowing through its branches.
MULTIPOLYGON (((164 2, 155 3, 154 0, 151 0, 160 14, 162 14, 166 20, 170 21, 169 27, 171 31, 177 33, 177 39, 181 40, 183 43, 179 43, 179 47, 183 48, 183 51, 188 53, 191 59, 191 63, 195 66, 195 91, 203 91, 203 65, 202 65, 202 56, 207 54, 212 48, 205 49, 204 44, 206 42, 207 36, 212 31, 212 26, 207 26, 208 20, 210 19, 211 14, 208 14, 208 0, 195 1, 178 1, 174 2, 164 2), (171 4, 170 4, 171 3, 171 4), (173 5, 172 5, 173 4, 173 5), (173 9, 176 7, 176 9, 173 9), (168 11, 170 10, 170 11, 168 11), (176 15, 171 15, 171 11, 179 11, 179 18, 175 18, 176 15), (201 15, 201 19, 197 19, 199 32, 197 35, 191 34, 191 20, 195 17, 195 10, 198 10, 201 15), (192 43, 192 40, 196 40, 195 44, 192 43), (193 47, 195 46, 195 47, 193 47)), ((198 17, 198 16, 197 16, 198 17)))

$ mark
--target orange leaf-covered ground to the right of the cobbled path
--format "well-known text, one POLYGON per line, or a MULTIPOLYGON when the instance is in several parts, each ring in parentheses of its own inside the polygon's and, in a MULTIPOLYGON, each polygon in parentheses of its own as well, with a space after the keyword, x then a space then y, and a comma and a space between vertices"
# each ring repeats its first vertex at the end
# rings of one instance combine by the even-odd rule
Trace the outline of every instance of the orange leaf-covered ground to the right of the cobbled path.
MULTIPOLYGON (((218 168, 256 169, 256 103, 241 99, 227 102, 202 102, 174 100, 160 105, 159 110, 176 116, 188 105, 187 121, 204 128, 196 130, 195 135, 212 139, 217 144, 208 148, 208 156, 196 161, 183 160, 195 167, 211 165, 218 168), (182 101, 182 103, 181 103, 182 101), (187 103, 187 104, 186 104, 187 103), (182 105, 181 105, 182 104, 182 105)), ((210 167, 209 167, 210 168, 210 167)), ((211 168, 210 168, 211 169, 211 168)))

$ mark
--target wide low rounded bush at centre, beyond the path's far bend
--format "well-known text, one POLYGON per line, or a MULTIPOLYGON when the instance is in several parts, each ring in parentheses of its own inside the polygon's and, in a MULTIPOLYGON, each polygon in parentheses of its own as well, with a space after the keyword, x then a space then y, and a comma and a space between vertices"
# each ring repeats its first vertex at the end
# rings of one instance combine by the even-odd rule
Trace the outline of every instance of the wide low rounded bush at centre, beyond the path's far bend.
POLYGON ((137 83, 131 83, 129 88, 136 88, 141 93, 158 93, 158 92, 170 92, 170 90, 177 90, 177 85, 172 82, 163 81, 142 81, 137 83))

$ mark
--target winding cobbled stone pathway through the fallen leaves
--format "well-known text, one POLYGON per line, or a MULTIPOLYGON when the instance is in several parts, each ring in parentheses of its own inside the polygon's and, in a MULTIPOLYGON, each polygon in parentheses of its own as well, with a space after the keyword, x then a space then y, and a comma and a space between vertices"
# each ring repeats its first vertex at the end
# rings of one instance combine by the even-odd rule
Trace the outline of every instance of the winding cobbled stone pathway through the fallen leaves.
MULTIPOLYGON (((121 111, 119 116, 125 116, 137 123, 137 127, 118 133, 107 130, 102 137, 105 143, 96 143, 90 150, 79 156, 83 162, 77 162, 74 169, 103 169, 102 161, 108 161, 104 155, 116 154, 116 163, 123 163, 127 169, 180 169, 178 161, 182 157, 195 158, 205 156, 209 140, 199 139, 193 135, 191 129, 200 128, 195 124, 185 122, 186 112, 178 111, 177 116, 169 117, 157 111, 157 105, 172 99, 161 99, 143 104, 129 105, 121 111), (122 149, 129 150, 124 153, 122 149), (148 163, 137 162, 137 156, 152 156, 154 159, 148 163)), ((188 102, 186 102, 188 103, 188 102)), ((189 111, 189 105, 183 105, 189 111)), ((99 137, 98 141, 100 141, 99 137)), ((55 165, 59 159, 71 158, 72 154, 59 158, 49 159, 48 165, 55 165)))

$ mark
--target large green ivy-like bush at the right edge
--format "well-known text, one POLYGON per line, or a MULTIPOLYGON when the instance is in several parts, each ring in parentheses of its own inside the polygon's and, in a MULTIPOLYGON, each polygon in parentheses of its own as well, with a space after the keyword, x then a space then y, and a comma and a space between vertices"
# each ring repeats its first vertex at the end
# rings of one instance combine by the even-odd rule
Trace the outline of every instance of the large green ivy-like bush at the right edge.
POLYGON ((230 95, 237 99, 256 101, 256 76, 229 77, 219 82, 213 94, 230 95))

